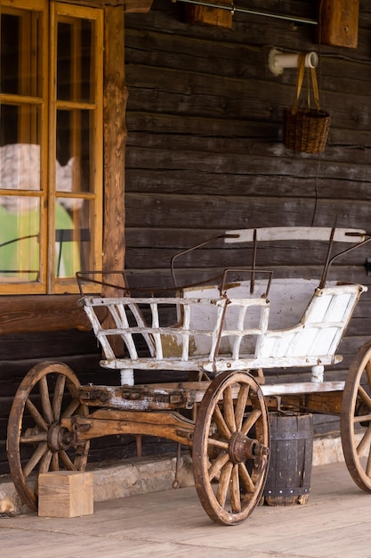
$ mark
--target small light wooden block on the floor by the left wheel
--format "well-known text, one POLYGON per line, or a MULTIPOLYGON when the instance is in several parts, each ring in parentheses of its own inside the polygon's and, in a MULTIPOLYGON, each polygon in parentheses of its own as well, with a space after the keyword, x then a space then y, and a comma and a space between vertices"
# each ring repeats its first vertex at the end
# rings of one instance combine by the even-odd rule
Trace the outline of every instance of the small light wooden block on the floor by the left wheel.
POLYGON ((38 514, 41 517, 89 515, 93 513, 93 473, 40 473, 38 495, 38 514))

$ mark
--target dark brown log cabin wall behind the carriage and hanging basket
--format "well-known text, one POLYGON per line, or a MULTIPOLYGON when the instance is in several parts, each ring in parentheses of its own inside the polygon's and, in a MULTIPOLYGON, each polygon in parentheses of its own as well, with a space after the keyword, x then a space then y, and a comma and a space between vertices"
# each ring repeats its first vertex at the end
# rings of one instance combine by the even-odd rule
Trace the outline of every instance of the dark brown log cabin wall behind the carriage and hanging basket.
MULTIPOLYGON (((247 4, 317 17, 311 1, 247 4)), ((154 0, 149 13, 125 14, 125 267, 131 283, 170 284, 174 253, 229 228, 336 225, 369 230, 367 3, 360 4, 356 49, 319 45, 311 25, 236 12, 231 29, 218 29, 186 22, 185 10, 181 3, 154 0), (290 152, 282 144, 283 109, 294 99, 295 71, 278 77, 270 72, 272 47, 319 53, 321 105, 332 117, 320 156, 290 152)), ((334 278, 371 283, 365 268, 369 250, 353 252, 337 264, 334 278)), ((265 246, 258 256, 259 265, 272 268, 275 276, 315 278, 326 250, 280 243, 279 250, 265 246)), ((244 258, 250 261, 248 250, 226 249, 218 241, 182 258, 179 277, 198 280, 244 258)), ((370 338, 370 297, 362 295, 341 346, 343 364, 329 373, 330 379, 344 377, 357 349, 370 338)), ((45 358, 62 360, 82 383, 117 384, 118 374, 102 371, 100 357, 91 332, 0 336, 0 472, 8 470, 5 439, 12 398, 31 366, 45 358)), ((285 379, 289 375, 286 371, 285 379)), ((137 381, 148 378, 141 374, 137 381)), ((326 430, 326 421, 319 428, 326 430)), ((133 437, 97 440, 92 446, 90 461, 135 453, 133 437)), ((164 440, 148 440, 143 452, 167 447, 164 440)))

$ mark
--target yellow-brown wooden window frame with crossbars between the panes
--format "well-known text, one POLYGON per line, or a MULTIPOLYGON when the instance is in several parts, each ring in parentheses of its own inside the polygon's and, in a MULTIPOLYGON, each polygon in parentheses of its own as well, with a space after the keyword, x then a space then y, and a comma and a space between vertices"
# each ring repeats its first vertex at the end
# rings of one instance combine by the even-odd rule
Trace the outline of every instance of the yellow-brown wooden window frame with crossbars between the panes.
MULTIPOLYGON (((30 137, 31 143, 35 141, 40 145, 40 190, 22 191, 17 194, 21 196, 36 197, 40 201, 40 263, 39 281, 35 282, 12 282, 4 281, 0 283, 1 294, 59 294, 78 292, 75 277, 61 278, 55 277, 55 201, 58 193, 55 192, 55 153, 56 153, 56 114, 59 109, 89 111, 91 116, 92 128, 90 130, 90 143, 92 150, 91 172, 92 184, 87 193, 71 193, 69 197, 77 197, 87 201, 91 209, 89 228, 92 238, 93 268, 102 268, 102 237, 103 237, 103 50, 104 50, 104 11, 103 9, 91 8, 87 6, 77 6, 74 4, 64 4, 51 0, 2 0, 2 7, 6 7, 7 12, 17 13, 19 10, 29 12, 39 12, 41 31, 40 31, 40 53, 42 57, 41 73, 42 76, 35 78, 35 87, 31 94, 0 94, 0 102, 14 103, 25 108, 36 106, 41 112, 37 119, 41 121, 40 136, 32 140, 32 132, 21 134, 20 143, 23 137, 30 137), (94 21, 93 25, 93 76, 91 86, 93 95, 91 103, 84 102, 65 102, 56 99, 56 72, 57 72, 57 20, 58 18, 87 19, 94 21), (39 81, 40 80, 40 81, 39 81), (41 91, 36 92, 36 83, 41 84, 41 91), (38 93, 38 94, 36 94, 38 93)), ((32 40, 32 29, 25 36, 23 33, 21 40, 32 40)), ((33 49, 26 49, 32 51, 33 49)), ((25 63, 24 60, 21 61, 25 63)), ((30 64, 34 62, 29 60, 30 64)), ((21 78, 20 68, 20 78, 21 78)), ((22 90, 21 90, 22 91, 22 90)), ((22 124, 20 123, 20 126, 22 124)), ((28 140, 29 141, 29 140, 28 140)), ((24 140, 23 140, 24 142, 24 140)), ((28 143, 28 142, 26 142, 28 143)), ((2 191, 6 195, 6 190, 2 191)), ((0 192, 1 195, 1 192, 0 192)))

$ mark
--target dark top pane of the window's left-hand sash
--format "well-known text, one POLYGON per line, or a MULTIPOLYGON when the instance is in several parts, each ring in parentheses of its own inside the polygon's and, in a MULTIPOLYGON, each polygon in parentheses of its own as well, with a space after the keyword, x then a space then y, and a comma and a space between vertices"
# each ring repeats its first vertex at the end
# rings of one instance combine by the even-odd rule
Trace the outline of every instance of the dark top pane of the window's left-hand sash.
POLYGON ((3 7, 0 17, 1 93, 41 96, 41 13, 3 7))

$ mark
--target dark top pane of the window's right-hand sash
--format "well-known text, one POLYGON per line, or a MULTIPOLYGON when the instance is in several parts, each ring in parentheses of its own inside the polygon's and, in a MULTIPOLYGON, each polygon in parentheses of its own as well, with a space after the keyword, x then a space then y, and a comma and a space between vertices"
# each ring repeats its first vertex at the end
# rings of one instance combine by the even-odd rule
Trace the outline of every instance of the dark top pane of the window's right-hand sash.
POLYGON ((57 48, 57 98, 93 102, 92 33, 94 21, 60 17, 57 48))

